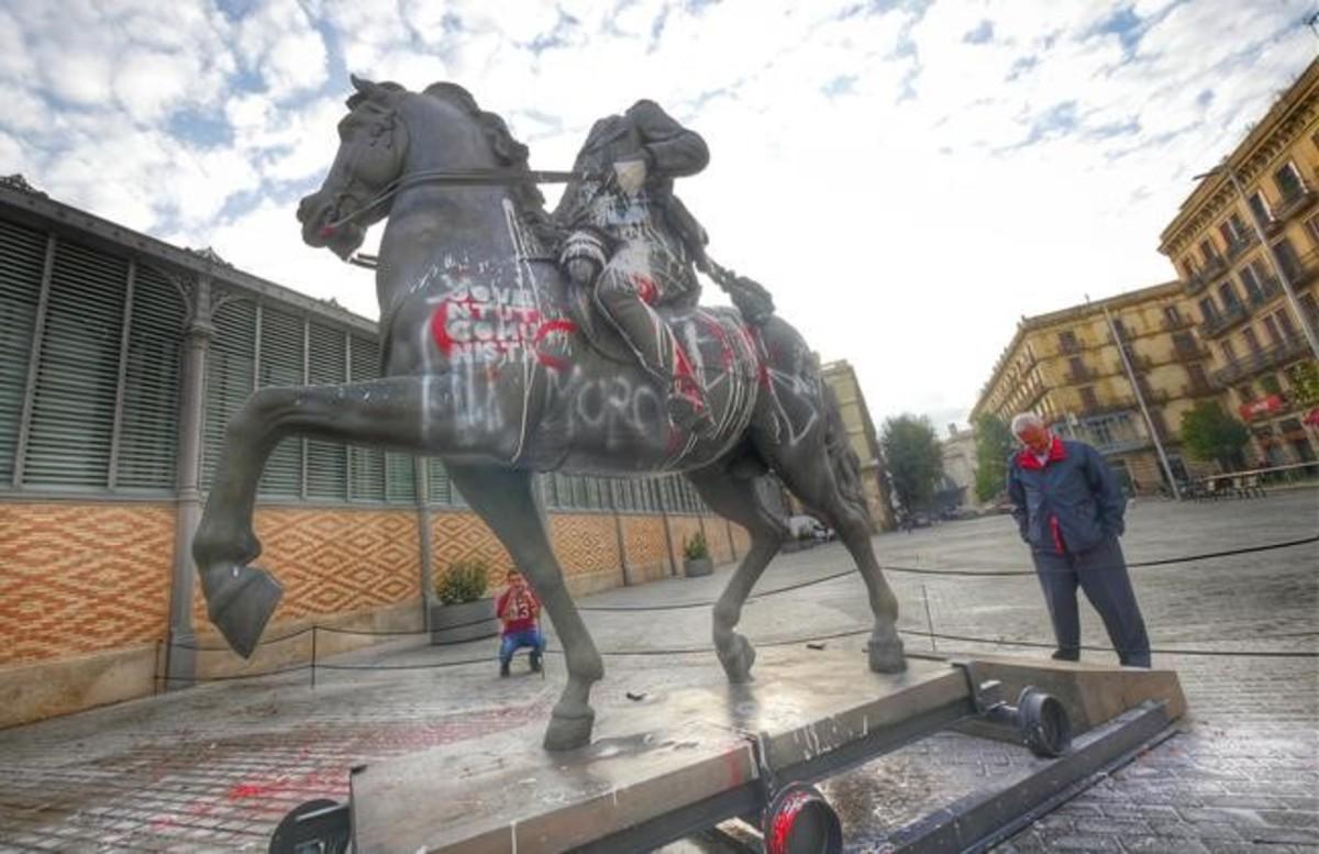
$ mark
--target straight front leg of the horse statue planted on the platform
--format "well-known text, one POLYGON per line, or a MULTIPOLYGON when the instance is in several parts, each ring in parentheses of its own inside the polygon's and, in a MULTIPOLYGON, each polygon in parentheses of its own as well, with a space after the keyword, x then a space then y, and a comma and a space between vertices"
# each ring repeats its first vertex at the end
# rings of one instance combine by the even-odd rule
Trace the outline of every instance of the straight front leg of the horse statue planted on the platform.
POLYGON ((604 663, 563 586, 563 571, 550 547, 532 493, 532 473, 466 464, 448 464, 446 470, 467 503, 508 548, 518 571, 530 579, 563 644, 568 684, 545 730, 546 750, 568 750, 588 743, 595 721, 591 685, 604 676, 604 663))

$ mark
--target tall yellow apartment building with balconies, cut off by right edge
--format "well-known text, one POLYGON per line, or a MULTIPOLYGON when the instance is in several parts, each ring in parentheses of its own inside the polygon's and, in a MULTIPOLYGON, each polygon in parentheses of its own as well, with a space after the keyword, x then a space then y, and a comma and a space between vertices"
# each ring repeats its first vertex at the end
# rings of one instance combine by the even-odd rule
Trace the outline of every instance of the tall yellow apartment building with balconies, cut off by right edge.
POLYGON ((1316 202, 1319 61, 1202 178, 1159 239, 1194 306, 1210 380, 1250 428, 1250 465, 1310 463, 1319 451, 1316 202))

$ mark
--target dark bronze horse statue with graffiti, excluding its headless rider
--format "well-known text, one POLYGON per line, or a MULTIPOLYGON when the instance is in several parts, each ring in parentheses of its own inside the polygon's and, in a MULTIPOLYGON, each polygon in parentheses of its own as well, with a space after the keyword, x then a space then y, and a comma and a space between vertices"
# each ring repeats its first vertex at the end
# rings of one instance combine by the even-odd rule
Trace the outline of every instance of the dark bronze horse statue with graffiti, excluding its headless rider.
POLYGON ((580 286, 549 257, 542 198, 526 148, 459 86, 410 92, 353 78, 340 146, 298 208, 302 239, 348 258, 388 216, 376 269, 380 380, 268 386, 228 424, 193 555, 211 621, 251 656, 281 588, 251 563, 266 457, 289 436, 380 445, 445 461, 471 509, 532 581, 563 644, 567 684, 545 747, 591 738, 600 654, 563 584, 533 474, 681 472, 752 546, 714 608, 714 642, 731 681, 756 651, 735 627, 778 552, 785 521, 758 497, 774 472, 831 525, 869 592, 869 667, 900 672, 897 598, 871 548, 857 460, 838 405, 801 335, 776 315, 735 308, 665 312, 716 422, 687 435, 665 415, 665 390, 636 364, 580 286))

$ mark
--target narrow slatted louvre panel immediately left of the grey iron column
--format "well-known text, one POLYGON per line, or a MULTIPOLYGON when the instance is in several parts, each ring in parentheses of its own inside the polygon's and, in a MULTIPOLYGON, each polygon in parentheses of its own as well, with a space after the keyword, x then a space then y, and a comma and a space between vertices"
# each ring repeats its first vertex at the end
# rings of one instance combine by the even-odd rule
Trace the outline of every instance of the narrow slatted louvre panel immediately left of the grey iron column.
POLYGON ((144 264, 136 269, 115 482, 117 489, 173 490, 187 308, 161 273, 144 264))

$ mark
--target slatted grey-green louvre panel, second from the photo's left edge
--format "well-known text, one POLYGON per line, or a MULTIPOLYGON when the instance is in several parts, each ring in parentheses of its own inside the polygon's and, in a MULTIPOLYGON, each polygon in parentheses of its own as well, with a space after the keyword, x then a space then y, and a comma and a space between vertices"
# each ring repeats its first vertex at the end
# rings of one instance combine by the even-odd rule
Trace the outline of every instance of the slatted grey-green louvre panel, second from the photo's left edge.
POLYGON ((24 482, 106 488, 128 261, 61 241, 38 357, 24 482))

